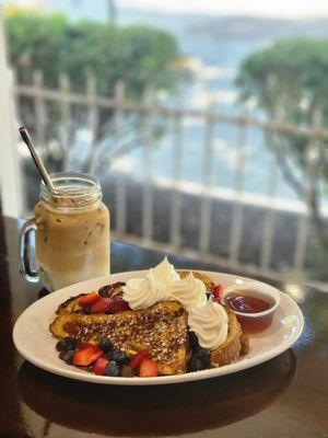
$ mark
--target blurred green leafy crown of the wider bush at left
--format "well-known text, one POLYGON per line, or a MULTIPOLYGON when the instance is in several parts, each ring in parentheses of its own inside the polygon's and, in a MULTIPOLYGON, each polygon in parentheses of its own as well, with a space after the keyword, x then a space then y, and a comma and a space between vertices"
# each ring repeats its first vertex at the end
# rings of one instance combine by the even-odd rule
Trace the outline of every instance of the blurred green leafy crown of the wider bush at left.
MULTIPOLYGON (((121 81, 126 96, 133 101, 139 101, 149 88, 153 92, 175 89, 176 73, 171 66, 178 58, 179 50, 175 38, 166 32, 143 25, 118 27, 87 21, 71 23, 57 14, 14 13, 7 16, 5 24, 9 58, 20 83, 33 83, 33 73, 40 70, 45 87, 57 89, 60 74, 67 73, 71 90, 82 93, 85 92, 86 74, 93 76, 97 93, 104 96, 113 96, 114 85, 121 81)), ((22 122, 33 127, 35 118, 31 100, 22 99, 20 107, 22 122)), ((57 160, 60 169, 67 151, 61 148, 61 153, 58 150, 54 153, 54 148, 49 147, 54 138, 61 142, 60 111, 56 105, 48 105, 46 112, 43 148, 46 148, 49 159, 57 160)), ((85 124, 83 117, 85 111, 75 105, 68 136, 70 143, 77 126, 85 124)), ((112 118, 112 112, 99 111, 97 142, 108 136, 112 118)))

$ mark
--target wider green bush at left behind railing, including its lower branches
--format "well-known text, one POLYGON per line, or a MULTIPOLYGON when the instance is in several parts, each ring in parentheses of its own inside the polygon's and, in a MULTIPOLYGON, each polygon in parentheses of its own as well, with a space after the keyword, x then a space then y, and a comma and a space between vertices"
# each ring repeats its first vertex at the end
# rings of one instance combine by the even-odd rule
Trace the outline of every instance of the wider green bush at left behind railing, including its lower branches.
MULTIPOLYGON (((10 62, 21 84, 32 84, 34 72, 39 70, 44 87, 58 89, 59 78, 66 73, 71 90, 83 94, 87 74, 95 79, 96 92, 102 96, 113 96, 119 81, 125 84, 126 99, 137 101, 148 89, 153 92, 175 89, 177 77, 171 65, 179 50, 175 38, 166 32, 143 25, 72 23, 58 14, 24 12, 9 14, 5 24, 10 62)), ((70 157, 83 157, 80 150, 85 146, 79 142, 81 128, 92 131, 89 153, 80 162, 83 171, 93 171, 96 160, 108 168, 113 158, 144 142, 140 138, 140 120, 131 122, 127 115, 122 127, 125 141, 118 146, 110 108, 98 107, 91 114, 85 105, 71 105, 70 119, 66 120, 60 102, 44 102, 40 120, 33 100, 21 97, 19 103, 20 123, 30 127, 44 159, 56 171, 79 168, 77 160, 70 162, 70 157), (43 136, 38 135, 40 130, 43 136)))

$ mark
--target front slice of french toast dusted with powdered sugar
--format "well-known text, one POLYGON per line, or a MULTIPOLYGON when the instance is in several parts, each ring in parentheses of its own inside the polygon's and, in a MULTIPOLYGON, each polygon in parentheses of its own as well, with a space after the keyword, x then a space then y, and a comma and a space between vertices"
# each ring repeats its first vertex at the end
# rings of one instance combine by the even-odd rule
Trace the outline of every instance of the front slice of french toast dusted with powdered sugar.
POLYGON ((81 314, 61 310, 49 326, 57 337, 72 336, 98 343, 109 338, 114 347, 134 355, 149 350, 159 374, 186 372, 189 359, 187 312, 177 301, 162 301, 145 310, 116 314, 81 314))

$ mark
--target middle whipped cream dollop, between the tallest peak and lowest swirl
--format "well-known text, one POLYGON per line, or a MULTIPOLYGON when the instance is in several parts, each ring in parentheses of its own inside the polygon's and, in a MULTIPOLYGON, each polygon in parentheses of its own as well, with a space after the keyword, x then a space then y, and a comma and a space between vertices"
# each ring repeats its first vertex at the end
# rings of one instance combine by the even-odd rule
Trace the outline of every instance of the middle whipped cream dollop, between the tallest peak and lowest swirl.
POLYGON ((189 310, 197 304, 207 302, 206 285, 195 278, 192 273, 183 279, 173 281, 167 288, 167 298, 177 300, 185 309, 189 310))

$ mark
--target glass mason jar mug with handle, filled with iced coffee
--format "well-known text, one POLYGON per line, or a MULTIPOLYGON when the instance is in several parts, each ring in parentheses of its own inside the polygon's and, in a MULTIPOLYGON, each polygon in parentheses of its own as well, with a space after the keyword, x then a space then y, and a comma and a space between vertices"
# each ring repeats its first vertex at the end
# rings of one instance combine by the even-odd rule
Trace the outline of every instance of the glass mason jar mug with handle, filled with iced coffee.
POLYGON ((50 193, 42 183, 34 218, 21 228, 21 272, 48 290, 109 274, 109 211, 97 178, 79 173, 51 175, 50 193), (35 232, 36 268, 31 263, 35 232))

